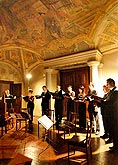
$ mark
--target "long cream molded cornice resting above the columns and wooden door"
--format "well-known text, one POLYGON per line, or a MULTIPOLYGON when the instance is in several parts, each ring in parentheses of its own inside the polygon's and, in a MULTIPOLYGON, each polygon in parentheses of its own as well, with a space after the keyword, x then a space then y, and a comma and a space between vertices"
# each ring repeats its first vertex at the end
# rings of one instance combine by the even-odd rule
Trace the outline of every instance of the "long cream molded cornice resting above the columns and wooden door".
POLYGON ((46 60, 44 61, 45 68, 54 68, 54 69, 62 69, 67 66, 80 66, 82 64, 86 64, 88 61, 101 61, 102 54, 98 50, 91 50, 83 53, 76 53, 73 55, 60 57, 56 59, 46 60))

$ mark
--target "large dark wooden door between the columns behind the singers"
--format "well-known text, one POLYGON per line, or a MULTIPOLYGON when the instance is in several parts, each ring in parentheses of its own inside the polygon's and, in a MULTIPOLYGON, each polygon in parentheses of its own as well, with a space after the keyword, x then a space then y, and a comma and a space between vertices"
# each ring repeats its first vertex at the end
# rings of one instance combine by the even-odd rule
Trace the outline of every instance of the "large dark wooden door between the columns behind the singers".
MULTIPOLYGON (((85 87, 85 93, 88 92, 88 86, 90 83, 90 71, 89 67, 61 70, 60 71, 60 83, 62 89, 67 92, 68 85, 72 85, 73 90, 78 95, 78 87, 83 85, 85 87)), ((78 111, 78 105, 75 103, 75 111, 78 111)), ((67 101, 64 100, 63 115, 67 114, 67 101)))

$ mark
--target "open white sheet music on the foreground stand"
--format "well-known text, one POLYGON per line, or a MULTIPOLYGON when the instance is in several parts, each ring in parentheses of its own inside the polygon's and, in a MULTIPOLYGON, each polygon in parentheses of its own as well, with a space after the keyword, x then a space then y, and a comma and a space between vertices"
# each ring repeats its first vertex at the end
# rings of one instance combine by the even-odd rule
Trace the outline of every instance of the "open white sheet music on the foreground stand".
POLYGON ((47 130, 53 125, 53 122, 46 116, 43 115, 38 119, 39 123, 41 123, 47 130))

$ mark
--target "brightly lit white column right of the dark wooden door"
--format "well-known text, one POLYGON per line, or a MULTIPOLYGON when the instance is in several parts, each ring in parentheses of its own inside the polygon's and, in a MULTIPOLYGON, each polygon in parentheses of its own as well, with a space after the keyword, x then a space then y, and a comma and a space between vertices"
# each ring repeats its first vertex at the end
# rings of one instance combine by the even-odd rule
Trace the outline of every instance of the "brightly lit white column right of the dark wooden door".
POLYGON ((89 61, 88 66, 90 67, 90 82, 93 82, 95 87, 99 84, 98 66, 99 61, 89 61))

